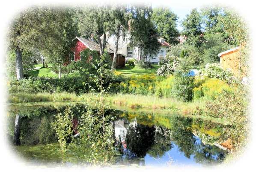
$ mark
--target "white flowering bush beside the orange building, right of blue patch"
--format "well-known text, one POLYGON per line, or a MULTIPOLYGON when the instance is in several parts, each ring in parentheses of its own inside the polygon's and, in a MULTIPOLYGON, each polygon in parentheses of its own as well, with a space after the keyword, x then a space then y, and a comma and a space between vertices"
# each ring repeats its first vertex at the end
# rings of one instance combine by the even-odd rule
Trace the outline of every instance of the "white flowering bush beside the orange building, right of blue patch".
POLYGON ((207 63, 204 69, 199 70, 198 76, 217 78, 227 83, 232 83, 237 81, 237 78, 229 70, 224 70, 221 68, 219 63, 207 63))

